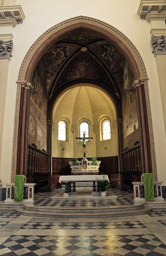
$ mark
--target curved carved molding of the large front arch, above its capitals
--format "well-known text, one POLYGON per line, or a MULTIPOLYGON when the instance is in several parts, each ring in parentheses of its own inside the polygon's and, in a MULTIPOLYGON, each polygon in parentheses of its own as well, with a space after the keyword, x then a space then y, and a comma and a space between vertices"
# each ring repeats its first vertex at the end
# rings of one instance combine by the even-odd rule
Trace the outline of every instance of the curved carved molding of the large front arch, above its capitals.
POLYGON ((135 80, 147 77, 143 59, 134 44, 132 44, 132 42, 123 35, 123 33, 103 21, 90 17, 78 16, 58 23, 44 32, 34 42, 21 64, 18 81, 31 82, 34 69, 46 50, 52 44, 63 38, 66 33, 71 33, 74 32, 74 30, 81 28, 88 29, 91 32, 93 31, 113 45, 116 45, 120 52, 122 52, 128 59, 132 67, 135 80))

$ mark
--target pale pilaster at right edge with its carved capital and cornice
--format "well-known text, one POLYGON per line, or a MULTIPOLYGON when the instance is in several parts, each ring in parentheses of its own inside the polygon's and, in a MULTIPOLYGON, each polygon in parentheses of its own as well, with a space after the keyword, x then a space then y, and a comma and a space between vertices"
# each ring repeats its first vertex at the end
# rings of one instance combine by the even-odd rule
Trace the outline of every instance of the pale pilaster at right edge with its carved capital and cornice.
POLYGON ((141 0, 137 15, 150 23, 152 54, 157 65, 163 120, 166 135, 166 1, 141 0))

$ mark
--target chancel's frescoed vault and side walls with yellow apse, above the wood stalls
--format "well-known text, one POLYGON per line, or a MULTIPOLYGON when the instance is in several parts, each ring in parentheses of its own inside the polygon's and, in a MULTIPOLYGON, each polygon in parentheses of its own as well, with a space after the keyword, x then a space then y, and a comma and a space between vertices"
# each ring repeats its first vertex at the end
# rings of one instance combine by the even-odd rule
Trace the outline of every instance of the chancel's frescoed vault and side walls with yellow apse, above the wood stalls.
POLYGON ((117 156, 132 148, 140 141, 136 95, 130 93, 133 81, 132 67, 117 45, 88 29, 67 32, 46 49, 34 70, 29 144, 53 157, 82 157, 75 137, 84 119, 93 137, 88 157, 117 156), (103 118, 110 121, 110 142, 103 140, 103 118), (60 120, 66 123, 66 141, 58 140, 60 120), (48 121, 53 122, 49 131, 48 121), (122 124, 118 135, 117 122, 122 124))

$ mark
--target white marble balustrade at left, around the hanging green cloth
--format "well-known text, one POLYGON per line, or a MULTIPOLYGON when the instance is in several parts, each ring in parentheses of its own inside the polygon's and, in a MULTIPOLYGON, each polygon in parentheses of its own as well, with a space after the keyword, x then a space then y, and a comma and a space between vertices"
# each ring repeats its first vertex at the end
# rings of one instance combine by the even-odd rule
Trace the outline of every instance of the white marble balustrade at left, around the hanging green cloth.
POLYGON ((6 200, 5 203, 34 203, 34 186, 36 183, 25 183, 23 201, 14 201, 14 183, 6 183, 6 200))

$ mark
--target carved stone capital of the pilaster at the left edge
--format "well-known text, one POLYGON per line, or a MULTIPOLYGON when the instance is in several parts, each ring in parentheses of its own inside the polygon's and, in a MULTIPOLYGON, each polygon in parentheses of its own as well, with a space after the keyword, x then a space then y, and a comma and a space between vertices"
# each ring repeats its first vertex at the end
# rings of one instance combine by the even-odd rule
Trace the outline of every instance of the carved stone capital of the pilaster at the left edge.
POLYGON ((13 48, 13 41, 3 41, 0 40, 0 59, 9 59, 12 57, 11 51, 13 48))

